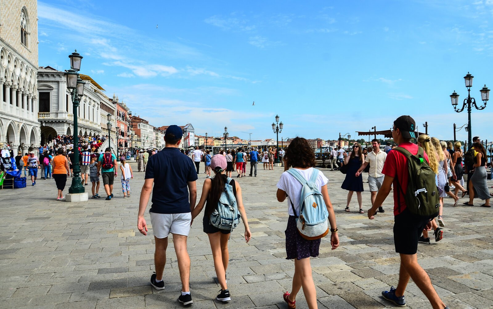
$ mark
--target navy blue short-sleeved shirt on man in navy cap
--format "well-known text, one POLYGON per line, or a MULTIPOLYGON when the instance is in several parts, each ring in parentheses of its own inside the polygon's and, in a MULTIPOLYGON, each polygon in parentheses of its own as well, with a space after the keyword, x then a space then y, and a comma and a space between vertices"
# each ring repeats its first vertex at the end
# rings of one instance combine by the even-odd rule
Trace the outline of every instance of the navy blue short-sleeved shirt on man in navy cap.
POLYGON ((188 156, 174 147, 151 155, 145 170, 145 179, 149 178, 154 179, 150 212, 190 213, 188 182, 197 180, 197 170, 188 156))

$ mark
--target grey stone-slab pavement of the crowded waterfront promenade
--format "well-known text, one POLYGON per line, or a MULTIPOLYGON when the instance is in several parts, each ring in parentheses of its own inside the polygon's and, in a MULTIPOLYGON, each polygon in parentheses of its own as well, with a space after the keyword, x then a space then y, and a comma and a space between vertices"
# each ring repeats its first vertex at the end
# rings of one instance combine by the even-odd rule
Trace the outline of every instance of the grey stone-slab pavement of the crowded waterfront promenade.
MULTIPOLYGON (((197 182, 199 197, 205 179, 202 169, 203 165, 197 182)), ((341 244, 331 250, 329 239, 324 238, 320 255, 311 260, 319 308, 392 308, 381 297, 382 290, 397 284, 399 269, 392 239, 391 196, 386 213, 375 220, 356 213, 355 195, 352 212, 346 213, 347 191, 340 188, 344 175, 322 171, 329 177, 341 244)), ((290 290, 294 263, 285 259, 284 251, 287 204, 275 197, 281 172, 280 167, 260 169, 257 178, 239 179, 253 238, 245 243, 243 225, 231 235, 228 287, 233 300, 227 304, 213 300, 220 287, 214 279, 202 217, 196 219, 188 240, 192 308, 287 308, 282 293, 290 290)), ((0 190, 0 308, 180 308, 176 299, 181 286, 171 242, 166 289, 156 291, 149 285, 154 268, 152 230, 143 236, 136 228, 143 176, 135 172, 131 198, 123 199, 115 183, 111 201, 56 201, 53 180, 0 190)), ((366 174, 363 177, 366 180, 366 174)), ((366 211, 370 195, 367 184, 364 187, 366 211)), ((444 239, 420 244, 419 262, 451 309, 492 308, 491 209, 452 207, 448 198, 445 206, 444 239)), ((148 212, 146 218, 150 223, 148 212)), ((431 308, 414 283, 408 285, 405 296, 409 308, 431 308)), ((302 292, 297 305, 307 308, 302 292)))

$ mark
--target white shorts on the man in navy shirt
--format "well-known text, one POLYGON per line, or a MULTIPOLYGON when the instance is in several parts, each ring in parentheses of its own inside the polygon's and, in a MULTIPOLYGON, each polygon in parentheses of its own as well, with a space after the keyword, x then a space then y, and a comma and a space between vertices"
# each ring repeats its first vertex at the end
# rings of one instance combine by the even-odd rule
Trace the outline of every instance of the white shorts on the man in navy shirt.
POLYGON ((151 215, 152 232, 157 238, 166 238, 170 233, 188 236, 192 213, 151 215))

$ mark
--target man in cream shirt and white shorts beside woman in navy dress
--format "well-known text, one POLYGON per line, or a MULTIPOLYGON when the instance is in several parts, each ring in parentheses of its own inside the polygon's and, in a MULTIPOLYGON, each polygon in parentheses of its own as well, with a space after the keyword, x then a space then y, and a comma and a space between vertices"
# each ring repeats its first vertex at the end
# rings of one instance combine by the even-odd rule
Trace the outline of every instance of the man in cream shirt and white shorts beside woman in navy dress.
MULTIPOLYGON (((371 193, 371 205, 375 202, 377 197, 377 192, 384 183, 384 174, 382 174, 382 169, 384 168, 385 160, 387 159, 387 153, 380 150, 380 141, 378 139, 373 139, 371 141, 371 146, 373 151, 366 155, 365 162, 358 168, 356 172, 356 177, 361 174, 361 171, 370 163, 370 171, 368 172, 368 185, 370 186, 371 193)), ((380 213, 385 213, 382 206, 378 208, 380 213)), ((375 212, 375 215, 377 213, 375 212)))

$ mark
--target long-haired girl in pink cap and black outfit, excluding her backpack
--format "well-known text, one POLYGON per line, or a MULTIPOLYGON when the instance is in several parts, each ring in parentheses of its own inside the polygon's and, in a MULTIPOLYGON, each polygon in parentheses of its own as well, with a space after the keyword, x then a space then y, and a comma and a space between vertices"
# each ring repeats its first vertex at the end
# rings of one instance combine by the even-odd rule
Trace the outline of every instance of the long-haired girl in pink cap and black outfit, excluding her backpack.
POLYGON ((243 206, 242 188, 240 183, 235 182, 233 179, 226 176, 226 167, 227 162, 223 155, 214 155, 211 158, 211 168, 215 174, 214 178, 209 178, 204 181, 200 201, 192 211, 193 220, 202 212, 204 205, 206 206, 202 224, 204 233, 206 233, 209 237, 212 258, 214 260, 214 269, 216 272, 217 281, 221 285, 221 290, 216 296, 216 300, 222 302, 228 302, 231 300, 231 295, 226 283, 226 270, 229 262, 228 240, 231 230, 219 229, 213 226, 211 224, 211 214, 217 210, 219 198, 223 192, 228 194, 228 200, 236 200, 238 212, 240 213, 243 225, 245 226, 245 241, 248 243, 251 239, 248 219, 246 217, 245 207, 243 206))

